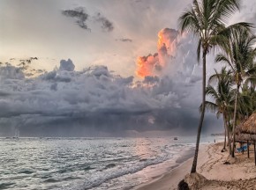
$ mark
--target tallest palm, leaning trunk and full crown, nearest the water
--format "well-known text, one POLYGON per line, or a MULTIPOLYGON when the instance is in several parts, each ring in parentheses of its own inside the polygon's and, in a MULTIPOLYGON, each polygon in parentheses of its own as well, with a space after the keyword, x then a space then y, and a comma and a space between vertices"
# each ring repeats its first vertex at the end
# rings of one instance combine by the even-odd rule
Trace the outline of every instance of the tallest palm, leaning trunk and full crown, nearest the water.
POLYGON ((227 38, 224 38, 224 34, 231 33, 239 27, 247 28, 250 26, 246 23, 239 23, 225 27, 225 23, 232 13, 239 9, 239 5, 240 0, 193 0, 192 5, 178 19, 181 33, 187 31, 199 40, 197 48, 198 61, 200 61, 201 51, 203 60, 202 112, 200 114, 192 173, 196 172, 200 134, 205 115, 207 54, 216 45, 226 48, 227 38))

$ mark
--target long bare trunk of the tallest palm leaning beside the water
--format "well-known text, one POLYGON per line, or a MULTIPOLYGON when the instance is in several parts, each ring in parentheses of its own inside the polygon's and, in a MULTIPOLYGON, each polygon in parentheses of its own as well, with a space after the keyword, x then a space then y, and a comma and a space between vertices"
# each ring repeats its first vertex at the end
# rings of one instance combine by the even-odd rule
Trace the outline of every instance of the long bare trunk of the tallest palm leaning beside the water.
POLYGON ((199 156, 199 149, 200 149, 200 135, 201 135, 201 130, 202 130, 204 116, 205 116, 205 109, 206 109, 206 84, 207 84, 206 77, 207 77, 207 49, 204 49, 203 50, 203 81, 202 81, 202 112, 200 116, 196 150, 193 158, 191 173, 197 172, 198 156, 199 156))

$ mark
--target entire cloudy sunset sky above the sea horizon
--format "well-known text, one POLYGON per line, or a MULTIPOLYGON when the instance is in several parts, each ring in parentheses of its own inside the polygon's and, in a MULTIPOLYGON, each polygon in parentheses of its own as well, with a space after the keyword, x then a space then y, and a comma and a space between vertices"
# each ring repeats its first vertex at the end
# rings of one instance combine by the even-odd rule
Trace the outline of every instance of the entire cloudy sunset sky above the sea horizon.
MULTIPOLYGON (((0 135, 196 134, 197 41, 177 31, 190 3, 1 0, 0 135)), ((237 21, 256 24, 252 0, 237 21)), ((222 67, 213 60, 207 77, 222 67)), ((222 119, 207 113, 203 130, 222 132, 222 119)))

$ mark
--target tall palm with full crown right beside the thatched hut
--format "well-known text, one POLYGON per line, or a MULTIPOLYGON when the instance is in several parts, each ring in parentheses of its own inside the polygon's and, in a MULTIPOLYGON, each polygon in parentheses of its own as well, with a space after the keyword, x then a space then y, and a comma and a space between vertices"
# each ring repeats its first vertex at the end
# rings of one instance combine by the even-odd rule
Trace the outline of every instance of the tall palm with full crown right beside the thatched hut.
POLYGON ((256 55, 256 48, 252 48, 256 37, 248 31, 237 31, 230 40, 230 48, 227 48, 224 54, 218 54, 215 58, 216 62, 225 62, 230 66, 233 80, 236 84, 235 91, 235 107, 233 117, 233 148, 232 157, 235 157, 235 128, 237 124, 237 99, 239 90, 246 78, 250 78, 256 73, 256 67, 253 64, 253 59, 256 55))

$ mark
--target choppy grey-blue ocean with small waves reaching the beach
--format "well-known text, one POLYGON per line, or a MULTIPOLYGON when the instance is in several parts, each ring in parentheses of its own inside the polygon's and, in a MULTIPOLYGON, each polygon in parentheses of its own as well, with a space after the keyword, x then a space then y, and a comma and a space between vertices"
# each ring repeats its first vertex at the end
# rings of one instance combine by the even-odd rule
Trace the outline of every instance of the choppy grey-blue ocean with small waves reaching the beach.
POLYGON ((192 157, 195 139, 1 138, 0 189, 132 189, 192 157))

